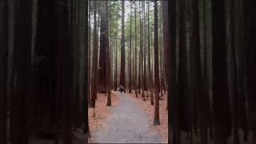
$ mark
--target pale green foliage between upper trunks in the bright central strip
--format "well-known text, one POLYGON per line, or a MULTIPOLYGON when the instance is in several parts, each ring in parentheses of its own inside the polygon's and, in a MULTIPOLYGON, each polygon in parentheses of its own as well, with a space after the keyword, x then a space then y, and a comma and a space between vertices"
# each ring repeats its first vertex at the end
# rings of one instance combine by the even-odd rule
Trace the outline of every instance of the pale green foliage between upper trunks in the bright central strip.
MULTIPOLYGON (((118 39, 117 45, 118 45, 118 51, 121 48, 121 18, 122 18, 122 1, 109 1, 108 2, 108 14, 109 14, 109 39, 110 39, 110 47, 115 46, 115 39, 118 39)), ((130 21, 131 21, 131 41, 132 41, 132 48, 135 47, 135 39, 137 39, 137 47, 139 46, 139 39, 140 39, 140 13, 142 13, 142 6, 140 6, 141 2, 135 2, 135 1, 126 1, 126 14, 125 14, 125 38, 126 38, 126 50, 128 50, 128 43, 130 42, 130 21), (131 18, 130 18, 130 8, 131 8, 131 18), (135 8, 137 9, 137 16, 136 16, 136 29, 137 34, 135 34, 135 8), (136 37, 135 37, 136 35, 136 37)), ((145 26, 145 38, 146 38, 146 46, 147 44, 147 38, 148 38, 148 10, 147 5, 148 2, 145 2, 145 22, 143 22, 143 25, 145 26)), ((98 2, 98 6, 100 7, 100 3, 98 2)), ((160 3, 158 4, 158 22, 162 22, 162 11, 160 11, 160 3)), ((98 11, 100 13, 100 11, 98 11)), ((142 13, 143 17, 143 13, 142 13)), ((149 18, 150 18, 150 46, 154 46, 154 3, 150 2, 150 10, 149 10, 149 18)), ((93 17, 91 17, 91 25, 93 24, 93 17)), ((93 26, 92 26, 93 27, 93 26)), ((159 26, 159 33, 162 33, 160 31, 159 26)), ((160 36, 161 34, 159 34, 160 36)), ((159 42, 161 38, 159 38, 159 42)))

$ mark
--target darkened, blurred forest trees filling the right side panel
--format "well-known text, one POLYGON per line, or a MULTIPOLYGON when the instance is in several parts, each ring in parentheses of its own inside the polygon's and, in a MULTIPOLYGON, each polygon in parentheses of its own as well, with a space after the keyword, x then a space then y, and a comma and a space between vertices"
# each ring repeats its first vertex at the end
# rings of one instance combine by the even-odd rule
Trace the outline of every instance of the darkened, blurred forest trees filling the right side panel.
POLYGON ((256 3, 168 2, 168 141, 255 143, 256 3))

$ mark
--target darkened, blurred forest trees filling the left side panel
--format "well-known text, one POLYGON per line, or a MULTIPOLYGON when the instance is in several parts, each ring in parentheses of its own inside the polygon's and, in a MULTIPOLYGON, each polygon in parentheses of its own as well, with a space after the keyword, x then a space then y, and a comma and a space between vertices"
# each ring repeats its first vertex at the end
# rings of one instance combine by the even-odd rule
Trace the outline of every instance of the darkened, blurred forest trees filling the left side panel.
POLYGON ((1 144, 32 137, 71 144, 72 130, 88 133, 87 6, 1 0, 1 144))

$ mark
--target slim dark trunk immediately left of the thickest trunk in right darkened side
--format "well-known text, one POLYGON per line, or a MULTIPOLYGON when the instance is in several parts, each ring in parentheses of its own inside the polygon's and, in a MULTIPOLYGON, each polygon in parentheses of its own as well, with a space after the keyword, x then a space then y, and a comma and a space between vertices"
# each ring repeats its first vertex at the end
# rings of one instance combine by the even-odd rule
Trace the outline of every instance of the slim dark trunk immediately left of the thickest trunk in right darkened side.
POLYGON ((192 39, 191 39, 191 58, 194 61, 194 96, 198 100, 198 124, 200 128, 201 143, 207 143, 207 127, 206 127, 206 95, 202 94, 202 60, 199 36, 199 12, 198 0, 192 1, 192 39))

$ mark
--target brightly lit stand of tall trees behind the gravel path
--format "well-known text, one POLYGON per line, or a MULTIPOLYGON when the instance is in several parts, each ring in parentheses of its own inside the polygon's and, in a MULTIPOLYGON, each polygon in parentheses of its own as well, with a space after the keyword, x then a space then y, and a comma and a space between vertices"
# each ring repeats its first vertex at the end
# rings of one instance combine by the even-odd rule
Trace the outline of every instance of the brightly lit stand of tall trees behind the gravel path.
MULTIPOLYGON (((144 101, 150 97, 152 105, 154 102, 159 105, 159 96, 156 95, 157 99, 154 100, 153 90, 161 90, 161 97, 166 93, 163 65, 166 55, 162 41, 163 3, 89 2, 88 75, 92 80, 89 82, 88 94, 91 107, 95 106, 97 92, 107 94, 110 102, 110 90, 118 90, 119 86, 123 86, 128 93, 136 91, 137 97, 138 93, 142 93, 144 101), (127 9, 130 13, 125 13, 127 9)), ((158 107, 154 122, 157 125, 160 124, 158 107)))

